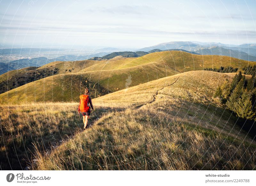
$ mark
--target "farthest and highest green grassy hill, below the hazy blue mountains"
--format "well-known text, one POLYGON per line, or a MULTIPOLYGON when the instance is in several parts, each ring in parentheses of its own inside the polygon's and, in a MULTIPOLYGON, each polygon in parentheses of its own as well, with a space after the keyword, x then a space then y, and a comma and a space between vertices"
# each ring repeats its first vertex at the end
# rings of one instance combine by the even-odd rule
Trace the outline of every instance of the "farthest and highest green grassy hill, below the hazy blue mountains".
MULTIPOLYGON (((194 55, 183 51, 162 51, 154 52, 140 58, 122 58, 116 63, 109 61, 109 63, 101 63, 100 65, 90 66, 85 68, 86 71, 96 70, 110 70, 110 69, 124 69, 132 66, 138 66, 149 63, 164 64, 172 67, 180 72, 187 72, 191 70, 203 70, 208 67, 232 66, 241 68, 244 65, 253 66, 255 62, 244 61, 237 58, 230 58, 227 56, 217 55, 194 55)), ((83 72, 84 70, 80 71, 83 72)))

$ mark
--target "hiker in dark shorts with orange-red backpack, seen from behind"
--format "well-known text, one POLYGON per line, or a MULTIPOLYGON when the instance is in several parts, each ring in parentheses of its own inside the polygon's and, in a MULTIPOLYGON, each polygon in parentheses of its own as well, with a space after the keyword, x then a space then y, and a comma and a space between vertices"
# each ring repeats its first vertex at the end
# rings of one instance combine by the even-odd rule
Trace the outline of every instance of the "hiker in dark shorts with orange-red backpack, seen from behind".
POLYGON ((90 118, 91 107, 93 110, 92 100, 89 95, 89 89, 86 88, 84 90, 84 94, 80 95, 80 103, 78 106, 78 114, 80 114, 81 112, 83 115, 84 129, 87 128, 88 119, 90 118))

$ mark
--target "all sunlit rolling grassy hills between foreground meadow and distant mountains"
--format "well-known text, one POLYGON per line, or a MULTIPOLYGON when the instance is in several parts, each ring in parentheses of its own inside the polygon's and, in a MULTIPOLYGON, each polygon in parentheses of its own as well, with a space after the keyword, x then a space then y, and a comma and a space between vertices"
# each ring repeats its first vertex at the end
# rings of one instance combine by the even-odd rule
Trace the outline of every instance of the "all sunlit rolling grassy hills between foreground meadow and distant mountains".
POLYGON ((98 97, 182 72, 220 66, 232 66, 242 71, 241 66, 248 65, 253 66, 254 62, 226 56, 193 55, 183 51, 154 52, 140 58, 118 56, 101 61, 53 62, 36 71, 55 68, 56 74, 66 74, 12 89, 0 95, 0 102, 72 101, 85 87, 91 89, 92 97, 98 97))

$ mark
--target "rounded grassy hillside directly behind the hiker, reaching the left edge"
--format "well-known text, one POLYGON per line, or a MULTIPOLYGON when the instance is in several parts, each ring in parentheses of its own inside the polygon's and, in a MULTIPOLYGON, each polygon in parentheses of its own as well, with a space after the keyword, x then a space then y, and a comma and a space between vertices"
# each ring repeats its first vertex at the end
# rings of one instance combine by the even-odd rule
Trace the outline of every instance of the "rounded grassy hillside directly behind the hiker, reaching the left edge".
MULTIPOLYGON (((5 92, 0 95, 0 102, 20 104, 35 101, 76 101, 85 87, 90 89, 92 97, 98 97, 164 77, 167 72, 163 69, 163 66, 145 66, 133 67, 129 69, 130 71, 121 69, 54 75, 5 92), (148 71, 156 71, 156 73, 148 74, 148 71), (129 80, 130 74, 131 80, 129 80)), ((170 68, 167 75, 172 74, 175 74, 175 71, 170 68)))

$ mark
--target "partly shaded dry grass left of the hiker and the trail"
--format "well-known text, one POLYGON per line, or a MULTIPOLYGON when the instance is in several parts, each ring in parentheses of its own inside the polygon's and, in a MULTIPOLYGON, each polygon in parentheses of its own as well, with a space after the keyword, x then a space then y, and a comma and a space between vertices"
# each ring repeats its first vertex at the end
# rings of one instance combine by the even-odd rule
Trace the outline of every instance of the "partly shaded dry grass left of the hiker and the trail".
POLYGON ((50 150, 60 140, 78 132, 82 122, 77 103, 37 103, 0 106, 0 167, 24 169, 34 145, 50 150))

